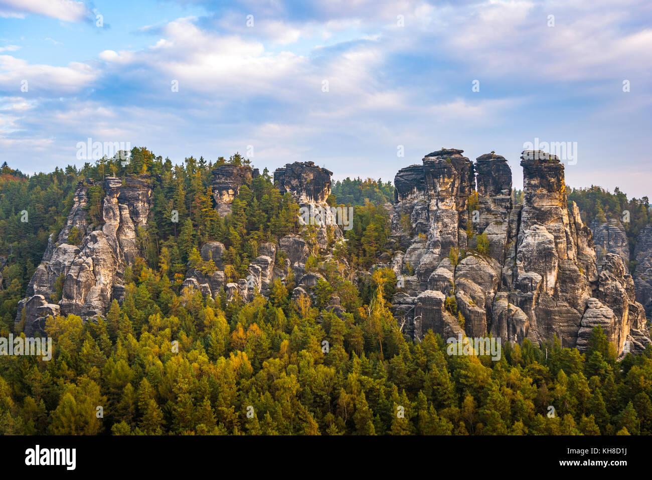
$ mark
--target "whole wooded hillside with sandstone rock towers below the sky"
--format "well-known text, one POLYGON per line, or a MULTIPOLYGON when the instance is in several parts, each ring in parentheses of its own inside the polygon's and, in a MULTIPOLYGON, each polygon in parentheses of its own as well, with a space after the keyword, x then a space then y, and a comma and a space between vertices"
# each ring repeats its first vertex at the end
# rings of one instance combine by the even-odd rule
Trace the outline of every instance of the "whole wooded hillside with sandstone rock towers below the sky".
POLYGON ((391 197, 239 154, 6 167, 3 336, 55 351, 0 357, 1 431, 652 432, 645 310, 589 203, 554 157, 524 152, 515 205, 505 158, 462 153, 402 168, 391 197), (451 355, 458 335, 502 353, 451 355))

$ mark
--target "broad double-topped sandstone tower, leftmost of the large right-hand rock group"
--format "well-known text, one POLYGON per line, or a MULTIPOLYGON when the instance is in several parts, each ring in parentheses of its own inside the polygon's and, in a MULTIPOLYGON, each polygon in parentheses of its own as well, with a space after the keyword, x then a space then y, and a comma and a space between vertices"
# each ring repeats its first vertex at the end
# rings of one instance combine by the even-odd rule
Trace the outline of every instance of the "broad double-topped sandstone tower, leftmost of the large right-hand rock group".
POLYGON ((428 284, 445 286, 448 278, 441 269, 451 271, 452 280, 455 268, 447 262, 449 250, 467 245, 466 207, 475 179, 473 163, 462 153, 455 149, 429 153, 422 165, 402 168, 394 180, 391 238, 405 252, 397 254, 392 264, 406 286, 393 305, 405 316, 404 331, 413 337, 420 337, 419 329, 425 333, 422 325, 429 322, 417 318, 419 293, 428 290, 428 284))

